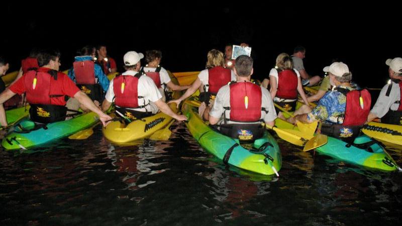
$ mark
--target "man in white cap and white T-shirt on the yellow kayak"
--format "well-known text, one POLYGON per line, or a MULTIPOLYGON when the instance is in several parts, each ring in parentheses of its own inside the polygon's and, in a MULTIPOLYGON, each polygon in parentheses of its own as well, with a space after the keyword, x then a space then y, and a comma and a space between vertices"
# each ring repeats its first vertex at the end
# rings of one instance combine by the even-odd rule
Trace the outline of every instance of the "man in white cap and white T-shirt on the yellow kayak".
POLYGON ((109 109, 114 101, 117 115, 128 122, 152 116, 158 112, 158 108, 177 121, 186 120, 185 116, 175 114, 162 101, 162 95, 154 81, 145 74, 139 73, 142 58, 144 55, 135 51, 129 51, 124 55, 127 71, 110 82, 102 109, 104 111, 109 109))

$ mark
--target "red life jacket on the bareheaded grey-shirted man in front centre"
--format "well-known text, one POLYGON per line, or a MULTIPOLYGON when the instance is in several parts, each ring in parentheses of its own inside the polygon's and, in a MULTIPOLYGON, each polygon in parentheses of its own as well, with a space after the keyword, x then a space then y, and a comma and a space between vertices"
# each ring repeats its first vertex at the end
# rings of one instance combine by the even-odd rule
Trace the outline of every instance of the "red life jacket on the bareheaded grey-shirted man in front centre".
POLYGON ((261 118, 261 87, 252 82, 230 84, 230 120, 257 122, 261 118), (248 96, 248 101, 245 96, 248 96))

